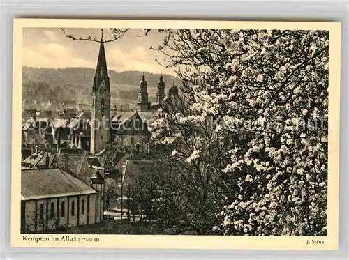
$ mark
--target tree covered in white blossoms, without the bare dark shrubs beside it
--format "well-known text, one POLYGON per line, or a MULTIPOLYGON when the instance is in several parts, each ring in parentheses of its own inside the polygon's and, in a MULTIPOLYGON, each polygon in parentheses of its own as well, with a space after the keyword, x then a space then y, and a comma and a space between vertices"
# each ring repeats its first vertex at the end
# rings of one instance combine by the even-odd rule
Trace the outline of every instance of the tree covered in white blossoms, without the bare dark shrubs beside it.
MULTIPOLYGON (((193 109, 181 121, 213 118, 216 144, 231 137, 230 161, 207 169, 238 187, 217 215, 218 233, 326 234, 328 37, 327 31, 181 29, 158 46, 169 66, 191 68, 178 71, 194 85, 184 84, 193 109)), ((205 158, 211 144, 184 160, 205 158)))

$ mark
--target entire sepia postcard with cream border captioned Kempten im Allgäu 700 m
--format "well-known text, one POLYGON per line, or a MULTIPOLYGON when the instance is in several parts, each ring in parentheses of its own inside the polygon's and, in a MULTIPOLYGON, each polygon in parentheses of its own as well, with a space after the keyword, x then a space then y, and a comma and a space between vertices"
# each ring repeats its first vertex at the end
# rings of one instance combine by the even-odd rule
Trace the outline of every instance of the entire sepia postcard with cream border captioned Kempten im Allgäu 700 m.
POLYGON ((338 247, 340 24, 17 19, 12 244, 338 247))

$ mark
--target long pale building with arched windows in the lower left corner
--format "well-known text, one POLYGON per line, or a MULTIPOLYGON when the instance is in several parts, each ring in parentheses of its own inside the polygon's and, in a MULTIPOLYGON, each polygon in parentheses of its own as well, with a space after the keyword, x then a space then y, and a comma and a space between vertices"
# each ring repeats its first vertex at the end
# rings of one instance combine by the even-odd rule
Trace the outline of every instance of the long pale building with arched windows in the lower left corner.
POLYGON ((61 169, 22 170, 21 232, 44 233, 103 221, 104 179, 91 186, 61 169))

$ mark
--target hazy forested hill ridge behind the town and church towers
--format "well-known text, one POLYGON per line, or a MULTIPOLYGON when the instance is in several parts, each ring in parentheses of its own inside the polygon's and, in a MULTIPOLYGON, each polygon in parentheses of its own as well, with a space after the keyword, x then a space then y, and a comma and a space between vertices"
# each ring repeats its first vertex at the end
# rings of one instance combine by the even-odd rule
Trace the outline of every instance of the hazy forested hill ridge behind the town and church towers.
MULTIPOLYGON (((22 68, 23 100, 47 101, 55 99, 84 99, 91 94, 93 68, 22 68)), ((109 70, 112 96, 121 100, 137 100, 143 72, 109 70)), ((155 95, 160 74, 145 72, 149 95, 155 95)), ((163 75, 166 86, 180 84, 177 77, 163 75)))

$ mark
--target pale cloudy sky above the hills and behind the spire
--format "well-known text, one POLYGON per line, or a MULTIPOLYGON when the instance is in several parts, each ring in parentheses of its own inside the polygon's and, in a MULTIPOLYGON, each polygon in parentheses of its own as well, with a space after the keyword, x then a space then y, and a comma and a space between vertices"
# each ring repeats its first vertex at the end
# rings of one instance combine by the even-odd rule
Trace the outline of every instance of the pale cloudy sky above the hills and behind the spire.
MULTIPOLYGON (((66 33, 76 38, 101 38, 101 29, 64 28, 66 33)), ((25 28, 23 32, 23 66, 36 68, 96 68, 99 44, 91 41, 73 41, 60 28, 25 28)), ((105 55, 109 70, 147 71, 174 75, 172 69, 159 65, 155 59, 165 64, 165 56, 149 47, 156 47, 163 35, 156 30, 145 37, 142 29, 130 29, 124 37, 112 43, 105 43, 105 55)), ((103 38, 112 38, 109 29, 103 29, 103 38)))

